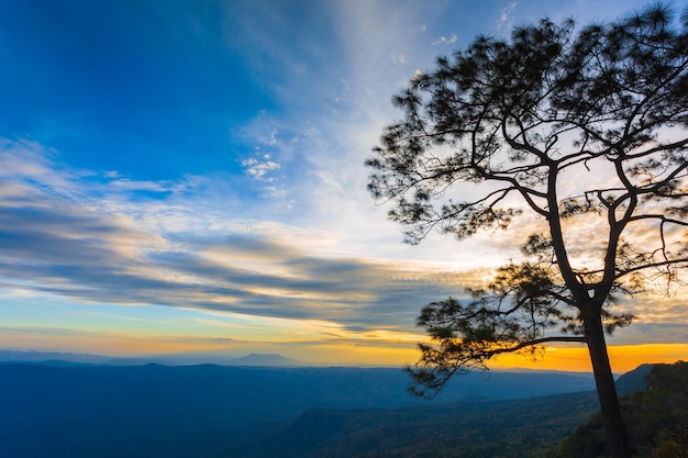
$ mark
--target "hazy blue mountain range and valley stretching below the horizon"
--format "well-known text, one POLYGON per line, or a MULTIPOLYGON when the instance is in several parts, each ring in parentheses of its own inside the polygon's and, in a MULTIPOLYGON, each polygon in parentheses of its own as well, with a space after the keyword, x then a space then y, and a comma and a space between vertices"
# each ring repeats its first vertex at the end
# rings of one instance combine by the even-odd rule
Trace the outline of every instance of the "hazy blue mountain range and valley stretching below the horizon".
MULTIPOLYGON (((2 360, 0 456, 12 458, 420 457, 468 445, 467 456, 503 456, 491 454, 554 447, 597 409, 591 375, 578 372, 469 372, 426 401, 400 368, 296 367, 279 355, 233 366, 9 350, 2 360)), ((647 370, 620 387, 636 389, 647 370)))

